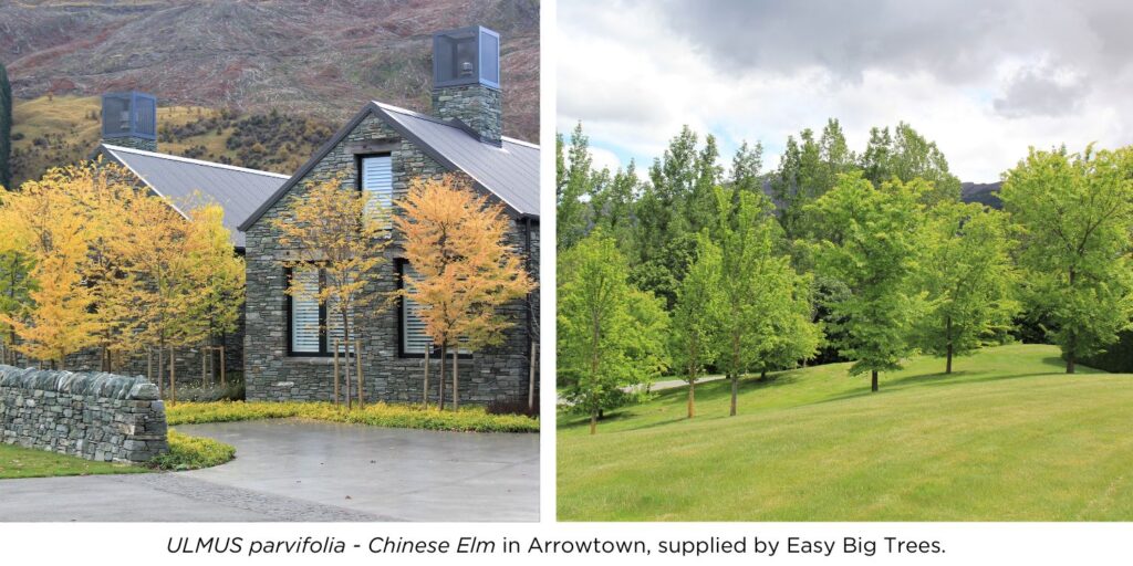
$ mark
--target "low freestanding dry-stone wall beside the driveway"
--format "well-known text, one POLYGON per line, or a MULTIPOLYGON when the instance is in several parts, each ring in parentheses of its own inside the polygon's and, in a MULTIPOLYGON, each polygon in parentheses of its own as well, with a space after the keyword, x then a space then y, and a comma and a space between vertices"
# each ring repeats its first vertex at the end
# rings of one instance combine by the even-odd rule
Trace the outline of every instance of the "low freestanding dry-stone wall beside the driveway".
POLYGON ((0 440, 104 462, 167 452, 165 409, 143 377, 0 366, 0 440))

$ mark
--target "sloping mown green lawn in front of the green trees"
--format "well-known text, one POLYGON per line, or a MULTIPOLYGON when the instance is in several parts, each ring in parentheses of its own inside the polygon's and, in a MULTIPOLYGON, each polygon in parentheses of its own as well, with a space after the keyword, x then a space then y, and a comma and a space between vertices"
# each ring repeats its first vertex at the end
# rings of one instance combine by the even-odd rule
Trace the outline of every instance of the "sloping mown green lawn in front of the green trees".
POLYGON ((830 365, 684 388, 615 411, 589 436, 559 421, 563 521, 1130 521, 1133 376, 1058 350, 987 349, 939 374, 830 365))

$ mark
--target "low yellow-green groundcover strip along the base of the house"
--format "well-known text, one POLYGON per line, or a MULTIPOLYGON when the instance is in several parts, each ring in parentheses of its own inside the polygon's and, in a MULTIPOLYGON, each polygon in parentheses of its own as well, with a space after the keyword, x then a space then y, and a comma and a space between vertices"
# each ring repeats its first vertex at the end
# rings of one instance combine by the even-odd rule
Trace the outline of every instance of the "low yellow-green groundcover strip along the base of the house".
POLYGON ((488 414, 484 408, 438 411, 419 405, 374 403, 348 411, 331 403, 213 402, 165 408, 170 424, 298 418, 372 427, 418 428, 467 432, 538 432, 539 420, 519 414, 488 414))

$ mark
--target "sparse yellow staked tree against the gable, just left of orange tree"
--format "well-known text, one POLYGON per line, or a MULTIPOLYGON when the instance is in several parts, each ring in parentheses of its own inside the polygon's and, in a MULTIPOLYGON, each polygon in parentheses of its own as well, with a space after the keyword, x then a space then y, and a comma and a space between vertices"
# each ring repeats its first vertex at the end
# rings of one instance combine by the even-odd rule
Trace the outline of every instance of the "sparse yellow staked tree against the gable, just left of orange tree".
MULTIPOLYGON (((303 277, 292 276, 287 293, 292 297, 313 295, 326 307, 326 328, 331 334, 337 321, 346 352, 347 406, 353 406, 349 353, 357 337, 356 315, 375 305, 376 293, 367 285, 367 276, 384 260, 383 250, 389 245, 390 212, 367 191, 347 187, 340 173, 321 182, 308 182, 304 192, 288 203, 287 211, 273 221, 283 246, 298 250, 300 257, 282 261, 283 266, 300 273, 306 269, 322 272, 323 284, 317 290, 307 289, 303 277)), ((361 355, 361 352, 353 352, 361 355)), ((361 376, 359 389, 361 386, 361 376)), ((365 404, 364 392, 358 391, 359 406, 365 404)), ((338 400, 334 400, 338 402, 338 400)))

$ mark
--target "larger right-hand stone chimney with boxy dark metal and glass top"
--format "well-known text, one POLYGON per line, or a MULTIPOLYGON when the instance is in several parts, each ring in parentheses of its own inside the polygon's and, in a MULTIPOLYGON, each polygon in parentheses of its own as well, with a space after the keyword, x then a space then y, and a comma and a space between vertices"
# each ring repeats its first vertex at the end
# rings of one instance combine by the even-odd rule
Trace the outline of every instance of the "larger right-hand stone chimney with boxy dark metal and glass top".
POLYGON ((433 34, 433 115, 501 145, 500 34, 482 26, 433 34))

